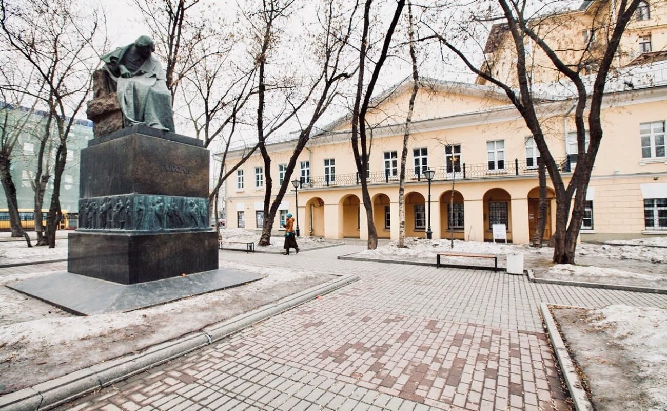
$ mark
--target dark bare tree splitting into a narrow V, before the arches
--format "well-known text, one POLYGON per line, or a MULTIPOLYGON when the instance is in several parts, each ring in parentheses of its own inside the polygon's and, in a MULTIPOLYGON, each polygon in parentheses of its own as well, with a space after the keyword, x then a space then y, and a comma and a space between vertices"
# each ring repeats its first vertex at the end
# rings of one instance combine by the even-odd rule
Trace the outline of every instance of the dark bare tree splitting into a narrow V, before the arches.
POLYGON ((375 86, 378 82, 378 78, 380 77, 380 71, 382 70, 382 66, 387 59, 390 43, 392 42, 392 37, 394 35, 396 25, 398 25, 398 19, 406 2, 405 0, 398 0, 396 2, 396 9, 394 10, 394 15, 384 35, 384 41, 382 42, 380 55, 376 60, 373 71, 371 72, 370 81, 368 82, 368 85, 364 87, 364 79, 366 75, 366 59, 368 59, 368 31, 370 28, 370 11, 372 3, 372 0, 366 0, 366 4, 364 5, 364 25, 361 38, 362 44, 359 49, 358 80, 356 95, 354 98, 354 108, 352 109, 352 151, 354 152, 354 162, 357 166, 357 172, 360 176, 360 182, 362 185, 362 200, 364 202, 364 208, 366 209, 366 220, 368 224, 368 249, 378 248, 378 231, 375 227, 373 219, 373 204, 368 192, 368 181, 366 180, 368 172, 368 154, 371 141, 368 136, 366 115, 368 114, 368 110, 370 108, 370 101, 375 90, 375 86))

